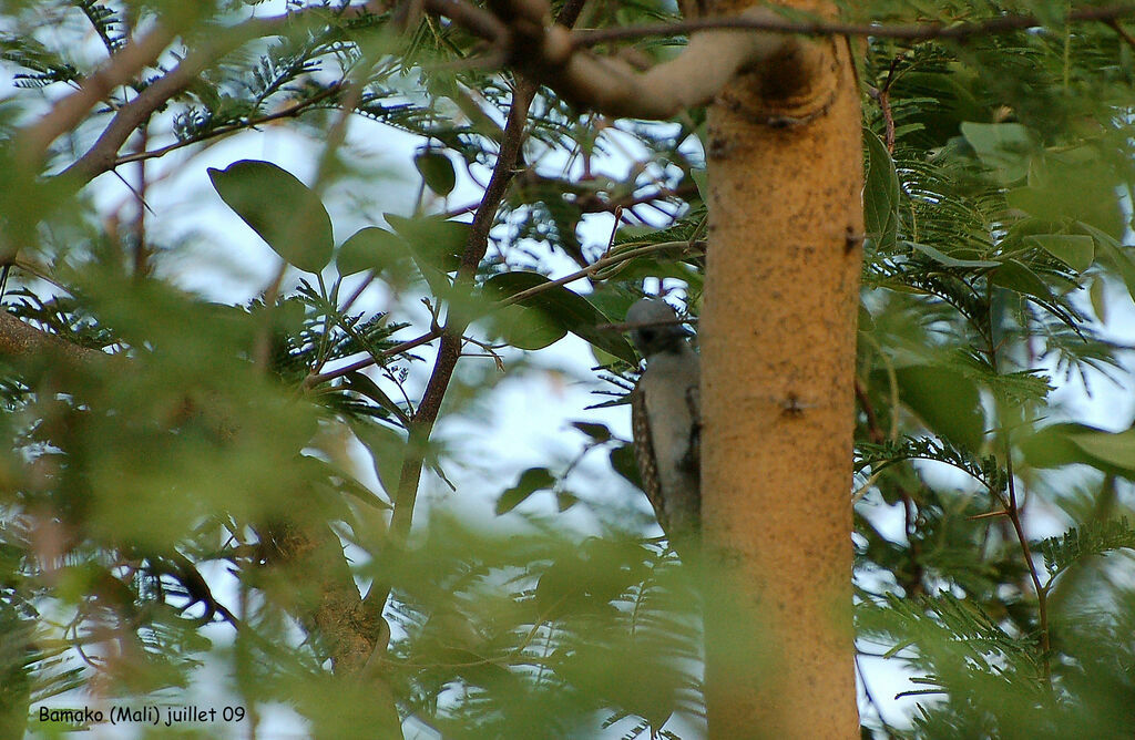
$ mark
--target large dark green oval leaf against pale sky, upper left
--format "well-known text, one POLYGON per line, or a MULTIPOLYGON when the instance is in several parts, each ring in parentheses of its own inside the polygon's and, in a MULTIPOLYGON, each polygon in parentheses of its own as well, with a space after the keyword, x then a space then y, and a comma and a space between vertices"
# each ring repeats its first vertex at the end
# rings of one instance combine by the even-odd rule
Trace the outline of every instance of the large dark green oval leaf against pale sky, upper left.
POLYGON ((331 218, 319 196, 295 175, 260 160, 209 168, 221 200, 285 262, 319 272, 331 261, 331 218))

